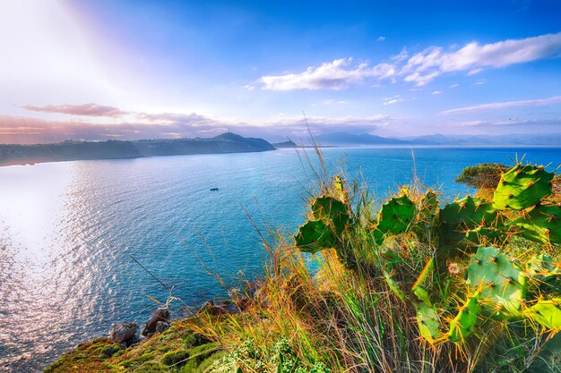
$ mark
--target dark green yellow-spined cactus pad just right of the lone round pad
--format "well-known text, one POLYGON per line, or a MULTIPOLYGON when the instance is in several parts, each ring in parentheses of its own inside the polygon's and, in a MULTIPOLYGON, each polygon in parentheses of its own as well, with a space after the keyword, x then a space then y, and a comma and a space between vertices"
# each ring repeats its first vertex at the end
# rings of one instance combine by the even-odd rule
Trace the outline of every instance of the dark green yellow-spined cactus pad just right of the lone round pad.
POLYGON ((440 210, 440 243, 444 247, 461 242, 479 226, 496 225, 497 212, 490 202, 467 196, 440 210))

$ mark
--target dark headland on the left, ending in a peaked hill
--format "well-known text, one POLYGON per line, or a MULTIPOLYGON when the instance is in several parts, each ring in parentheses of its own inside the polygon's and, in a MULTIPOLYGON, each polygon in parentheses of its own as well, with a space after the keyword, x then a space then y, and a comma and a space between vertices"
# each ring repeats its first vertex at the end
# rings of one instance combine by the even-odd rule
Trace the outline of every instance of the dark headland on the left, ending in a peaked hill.
POLYGON ((79 159, 177 156, 274 150, 263 139, 222 133, 210 139, 65 141, 57 144, 0 145, 0 165, 26 165, 79 159))

